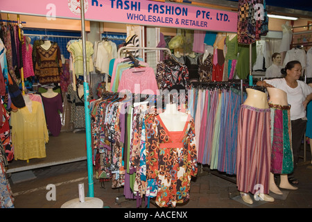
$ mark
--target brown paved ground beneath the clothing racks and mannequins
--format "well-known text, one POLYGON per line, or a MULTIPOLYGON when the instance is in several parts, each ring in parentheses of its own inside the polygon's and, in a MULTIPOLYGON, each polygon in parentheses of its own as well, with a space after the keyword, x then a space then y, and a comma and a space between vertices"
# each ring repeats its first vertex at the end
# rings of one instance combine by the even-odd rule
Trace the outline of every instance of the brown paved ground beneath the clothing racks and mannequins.
MULTIPOLYGON (((10 185, 15 197, 15 208, 60 208, 64 203, 79 198, 78 185, 83 183, 85 197, 88 196, 87 161, 72 162, 42 169, 33 169, 34 178, 24 182, 12 182, 10 185), (55 195, 51 195, 51 185, 55 186, 55 195), (49 188, 50 187, 50 188, 49 188), (51 199, 52 198, 52 199, 51 199)), ((198 176, 191 181, 189 201, 183 208, 311 208, 312 207, 312 165, 301 162, 293 176, 299 180, 297 190, 283 190, 284 195, 270 194, 274 202, 255 200, 254 204, 244 203, 236 189, 235 177, 218 171, 200 167, 198 176)), ((279 178, 277 177, 277 185, 279 178)), ((94 198, 103 200, 107 208, 137 208, 136 200, 125 200, 123 188, 112 189, 111 182, 93 180, 94 198)), ((141 208, 146 205, 143 201, 141 208)), ((150 208, 158 208, 153 200, 150 208)))

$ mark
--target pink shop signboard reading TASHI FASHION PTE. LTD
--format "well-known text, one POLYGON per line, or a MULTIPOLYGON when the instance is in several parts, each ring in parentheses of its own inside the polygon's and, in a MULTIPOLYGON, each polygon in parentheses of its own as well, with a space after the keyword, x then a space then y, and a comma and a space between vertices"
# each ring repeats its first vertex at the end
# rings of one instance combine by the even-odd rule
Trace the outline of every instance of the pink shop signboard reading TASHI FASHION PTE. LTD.
MULTIPOLYGON (((80 0, 1 0, 0 12, 80 19, 80 0)), ((85 20, 237 32, 237 12, 147 0, 84 0, 85 20)))

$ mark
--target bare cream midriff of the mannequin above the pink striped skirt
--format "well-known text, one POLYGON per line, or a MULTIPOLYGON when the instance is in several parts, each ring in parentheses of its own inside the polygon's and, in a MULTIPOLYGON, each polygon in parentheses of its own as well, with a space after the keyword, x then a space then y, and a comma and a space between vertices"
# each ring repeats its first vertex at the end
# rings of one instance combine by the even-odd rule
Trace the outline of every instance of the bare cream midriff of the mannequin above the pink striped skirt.
POLYGON ((259 108, 259 109, 269 108, 268 99, 264 92, 261 92, 256 89, 246 89, 246 92, 248 96, 244 102, 244 105, 250 105, 254 108, 259 108))

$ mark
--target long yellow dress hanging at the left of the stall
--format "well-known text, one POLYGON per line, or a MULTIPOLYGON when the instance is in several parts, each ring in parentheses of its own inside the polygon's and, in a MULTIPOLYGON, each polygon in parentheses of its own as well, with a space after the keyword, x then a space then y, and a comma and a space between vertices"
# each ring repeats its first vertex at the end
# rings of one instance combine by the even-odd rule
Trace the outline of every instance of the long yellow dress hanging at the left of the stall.
POLYGON ((32 111, 25 106, 11 113, 12 145, 15 160, 46 157, 49 133, 42 103, 32 101, 32 111))

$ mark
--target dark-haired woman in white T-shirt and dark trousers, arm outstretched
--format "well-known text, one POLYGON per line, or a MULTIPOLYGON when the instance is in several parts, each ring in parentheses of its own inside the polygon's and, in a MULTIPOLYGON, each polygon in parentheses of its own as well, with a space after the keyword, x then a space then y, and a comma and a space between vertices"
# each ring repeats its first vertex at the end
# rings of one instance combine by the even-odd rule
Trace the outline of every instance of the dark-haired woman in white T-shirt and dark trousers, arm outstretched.
MULTIPOLYGON (((302 66, 299 61, 293 60, 281 69, 284 78, 274 78, 270 80, 258 81, 257 85, 262 87, 276 87, 282 89, 287 94, 287 100, 291 105, 291 132, 293 146, 293 164, 296 167, 299 160, 300 146, 306 130, 306 105, 312 99, 312 88, 299 80, 302 74, 302 66)), ((293 184, 298 181, 292 179, 293 184)))

